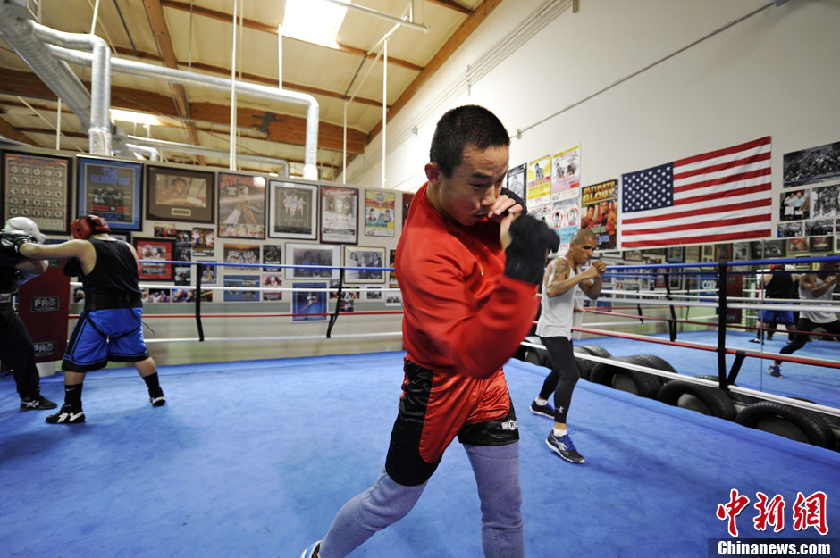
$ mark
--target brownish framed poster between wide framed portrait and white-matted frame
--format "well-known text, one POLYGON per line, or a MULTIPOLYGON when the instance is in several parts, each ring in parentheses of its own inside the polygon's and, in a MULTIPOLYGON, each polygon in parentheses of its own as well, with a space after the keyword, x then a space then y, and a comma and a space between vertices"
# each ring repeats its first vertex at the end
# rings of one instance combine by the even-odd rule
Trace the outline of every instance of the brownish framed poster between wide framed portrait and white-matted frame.
POLYGON ((220 172, 219 237, 265 238, 265 178, 220 172))

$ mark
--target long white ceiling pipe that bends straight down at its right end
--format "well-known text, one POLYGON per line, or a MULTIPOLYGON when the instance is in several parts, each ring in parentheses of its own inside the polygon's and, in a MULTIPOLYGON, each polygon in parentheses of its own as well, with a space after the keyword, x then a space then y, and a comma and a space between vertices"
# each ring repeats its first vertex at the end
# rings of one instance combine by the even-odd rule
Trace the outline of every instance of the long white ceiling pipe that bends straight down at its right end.
MULTIPOLYGON (((57 57, 76 64, 89 66, 92 56, 89 53, 68 50, 61 46, 48 46, 49 51, 57 57)), ((120 73, 127 73, 133 76, 149 79, 165 79, 172 83, 193 87, 205 87, 215 91, 229 92, 231 90, 231 79, 217 78, 205 74, 197 74, 189 71, 173 70, 163 66, 154 66, 143 62, 123 60, 122 58, 111 59, 111 70, 120 73)), ((320 107, 314 96, 288 89, 278 89, 247 81, 237 81, 236 89, 240 95, 256 96, 261 99, 280 101, 282 103, 302 104, 307 106, 307 134, 304 152, 303 178, 308 180, 318 179, 317 149, 318 149, 318 115, 320 107)))

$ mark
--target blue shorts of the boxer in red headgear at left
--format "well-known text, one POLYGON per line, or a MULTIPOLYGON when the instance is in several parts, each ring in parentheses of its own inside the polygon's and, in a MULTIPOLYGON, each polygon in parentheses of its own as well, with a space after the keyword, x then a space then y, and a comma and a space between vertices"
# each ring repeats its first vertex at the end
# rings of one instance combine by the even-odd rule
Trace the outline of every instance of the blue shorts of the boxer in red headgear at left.
POLYGON ((105 368, 108 361, 146 360, 142 317, 142 308, 81 312, 64 352, 62 370, 88 372, 105 368))

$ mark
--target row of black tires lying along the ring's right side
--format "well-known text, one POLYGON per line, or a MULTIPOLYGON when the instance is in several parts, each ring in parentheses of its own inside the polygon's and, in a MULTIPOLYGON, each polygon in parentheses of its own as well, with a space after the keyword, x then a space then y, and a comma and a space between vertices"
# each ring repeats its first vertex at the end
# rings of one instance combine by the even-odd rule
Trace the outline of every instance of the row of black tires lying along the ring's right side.
MULTIPOLYGON (((539 342, 539 337, 537 337, 539 342)), ((543 351, 544 353, 544 351, 543 351)), ((654 354, 613 357, 601 346, 575 346, 575 354, 589 354, 611 359, 594 362, 575 357, 582 379, 649 397, 662 403, 691 409, 726 421, 760 429, 813 446, 840 451, 840 420, 806 409, 744 396, 719 387, 703 386, 680 379, 667 379, 623 367, 623 362, 677 373, 664 359, 654 354)), ((534 354, 536 356, 536 354, 534 354)), ((550 366, 548 354, 541 355, 541 365, 550 366)), ((536 359, 535 359, 536 360, 536 359)), ((538 362, 534 362, 538 363, 538 362)), ((718 376, 701 374, 697 378, 718 382, 718 376)))

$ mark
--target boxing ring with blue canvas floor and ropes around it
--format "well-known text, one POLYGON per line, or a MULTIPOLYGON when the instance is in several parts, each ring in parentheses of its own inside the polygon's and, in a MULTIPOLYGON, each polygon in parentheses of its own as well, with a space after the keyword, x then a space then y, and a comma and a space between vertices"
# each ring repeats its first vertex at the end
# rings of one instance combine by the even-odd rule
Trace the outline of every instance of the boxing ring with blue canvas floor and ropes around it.
MULTIPOLYGON (((629 270, 623 266, 609 271, 629 270)), ((626 296, 612 290, 612 296, 626 296)), ((717 375, 722 361, 728 378, 743 354, 735 378, 740 394, 730 387, 732 394, 727 397, 735 401, 733 396, 743 396, 746 402, 752 396, 774 396, 775 387, 766 383, 765 391, 753 388, 760 384, 751 387, 753 376, 768 376, 764 366, 753 362, 764 364, 769 355, 775 356, 748 347, 752 330, 726 329, 725 349, 720 351, 718 323, 709 325, 695 317, 688 321, 707 325, 676 323, 670 329, 663 325, 671 319, 671 305, 676 315, 691 304, 702 304, 697 306, 702 309, 718 302, 677 300, 677 294, 659 301, 665 304, 652 304, 658 296, 636 296, 615 298, 609 308, 593 307, 597 312, 617 309, 617 314, 632 314, 622 306, 643 306, 651 313, 642 320, 667 329, 644 335, 602 325, 608 318, 622 322, 631 318, 587 314, 585 308, 580 312, 584 321, 578 332, 584 338, 575 346, 590 348, 578 354, 579 363, 592 365, 590 377, 601 365, 596 377, 611 378, 609 385, 581 381, 575 389, 570 426, 575 441, 585 448, 584 465, 569 465, 546 451, 550 421, 527 411, 546 368, 518 359, 506 364, 521 437, 526 554, 703 557, 716 555, 709 554, 709 548, 718 540, 743 542, 755 537, 830 543, 836 553, 840 540, 832 537, 840 529, 840 501, 835 494, 840 453, 744 428, 690 405, 640 396, 619 381, 629 379, 626 371, 660 378, 674 374, 660 370, 665 366, 656 359, 648 362, 659 368, 634 364, 634 356, 648 354, 669 362, 680 372, 678 381, 719 390, 719 378, 716 382, 694 376, 717 375), (662 315, 651 308, 661 308, 662 315), (615 356, 598 356, 595 353, 603 353, 593 346, 615 356), (691 357, 686 358, 689 351, 691 357), (716 514, 719 505, 730 501, 733 490, 750 501, 735 518, 737 539, 727 533, 728 518, 716 514), (753 520, 758 512, 752 506, 757 493, 784 499, 782 529, 756 528, 753 520), (820 493, 827 494, 820 508, 827 535, 819 532, 818 521, 795 521, 794 512, 802 507, 796 504, 797 496, 813 502, 820 493)), ((706 293, 702 298, 717 296, 706 293)), ((162 332, 156 323, 195 321, 199 314, 172 318, 166 313, 149 312, 144 320, 162 332)), ((225 320, 215 313, 227 316, 201 311, 202 327, 225 320)), ((325 338, 335 309, 323 313, 327 320, 317 322, 317 327, 325 338)), ((337 315, 331 336, 336 335, 336 323, 355 319, 349 312, 337 315)), ((640 321, 638 312, 632 320, 640 321)), ((266 343, 276 341, 264 337, 287 337, 249 333, 243 330, 239 337, 266 343)), ((311 335, 315 333, 307 331, 305 337, 311 335)), ((160 345, 230 347, 227 339, 213 335, 200 341, 198 333, 166 339, 147 331, 147 337, 160 345)), ((771 342, 775 345, 770 348, 780 342, 771 342)), ((523 350, 536 350, 529 343, 523 350)), ((811 346, 833 343, 815 340, 801 351, 807 358, 794 356, 819 362, 820 370, 834 373, 836 367, 825 365, 833 359, 814 358, 812 351, 820 347, 811 346)), ((167 404, 159 409, 148 406, 138 389, 142 380, 133 369, 89 372, 88 421, 67 428, 46 425, 38 412, 13 411, 17 398, 13 386, 6 385, 0 390, 0 409, 8 409, 0 411, 0 474, 6 480, 0 500, 0 556, 298 556, 323 535, 340 506, 370 486, 381 470, 397 412, 403 355, 390 351, 160 366, 167 404)), ((242 354, 243 359, 246 356, 242 354)), ((811 362, 788 364, 785 378, 774 381, 794 379, 798 372, 793 366, 813 368, 811 362)), ((61 382, 59 375, 43 378, 42 390, 47 396, 60 393, 61 382)), ((805 407, 832 408, 822 399, 813 401, 800 401, 804 406, 797 408, 809 412, 805 407)), ((457 446, 444 455, 415 509, 351 556, 482 555, 475 481, 466 454, 457 446)), ((806 514, 806 520, 819 518, 806 514)))

